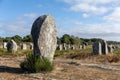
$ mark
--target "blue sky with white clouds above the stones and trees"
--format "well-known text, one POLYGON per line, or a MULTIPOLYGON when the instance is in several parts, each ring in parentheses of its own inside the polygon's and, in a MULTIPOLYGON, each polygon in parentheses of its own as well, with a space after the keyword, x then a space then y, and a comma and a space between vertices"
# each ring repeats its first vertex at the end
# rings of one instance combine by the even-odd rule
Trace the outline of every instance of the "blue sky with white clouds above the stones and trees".
POLYGON ((28 35, 44 14, 54 17, 59 37, 120 41, 120 0, 0 0, 0 36, 28 35))

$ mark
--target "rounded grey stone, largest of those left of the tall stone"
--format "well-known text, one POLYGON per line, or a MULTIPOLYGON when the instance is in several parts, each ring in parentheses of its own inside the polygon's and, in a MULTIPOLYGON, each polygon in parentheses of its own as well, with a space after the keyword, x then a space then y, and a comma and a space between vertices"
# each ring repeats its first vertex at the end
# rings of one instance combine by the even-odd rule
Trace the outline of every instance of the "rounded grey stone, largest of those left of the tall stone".
POLYGON ((6 46, 8 51, 17 51, 17 43, 14 40, 8 41, 6 46))

